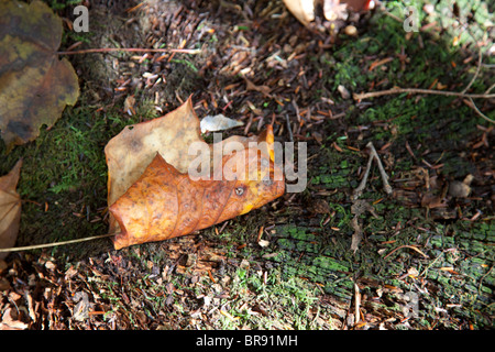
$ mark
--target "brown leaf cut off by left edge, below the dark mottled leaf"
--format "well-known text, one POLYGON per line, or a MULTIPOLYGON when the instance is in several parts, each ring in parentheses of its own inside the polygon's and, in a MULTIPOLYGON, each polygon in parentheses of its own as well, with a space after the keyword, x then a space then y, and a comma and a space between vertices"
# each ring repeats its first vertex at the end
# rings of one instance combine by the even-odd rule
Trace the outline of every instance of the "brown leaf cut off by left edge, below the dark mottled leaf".
MULTIPOLYGON (((0 177, 0 249, 11 248, 18 239, 21 221, 21 198, 15 191, 21 173, 22 160, 12 170, 0 177)), ((3 260, 9 253, 0 253, 3 260)))

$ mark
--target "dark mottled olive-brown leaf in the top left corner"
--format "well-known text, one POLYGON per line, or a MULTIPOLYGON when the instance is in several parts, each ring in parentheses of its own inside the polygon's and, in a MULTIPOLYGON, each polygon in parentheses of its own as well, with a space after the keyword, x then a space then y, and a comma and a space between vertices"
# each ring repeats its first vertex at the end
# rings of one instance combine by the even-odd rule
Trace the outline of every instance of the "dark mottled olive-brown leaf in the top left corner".
POLYGON ((62 32, 61 18, 42 1, 0 1, 0 131, 8 152, 77 101, 77 75, 57 55, 62 32))

